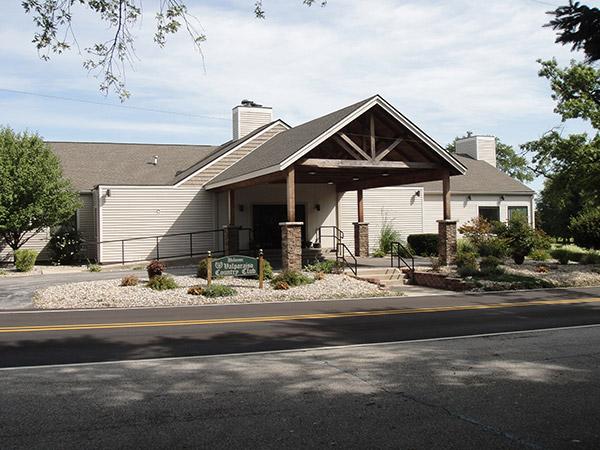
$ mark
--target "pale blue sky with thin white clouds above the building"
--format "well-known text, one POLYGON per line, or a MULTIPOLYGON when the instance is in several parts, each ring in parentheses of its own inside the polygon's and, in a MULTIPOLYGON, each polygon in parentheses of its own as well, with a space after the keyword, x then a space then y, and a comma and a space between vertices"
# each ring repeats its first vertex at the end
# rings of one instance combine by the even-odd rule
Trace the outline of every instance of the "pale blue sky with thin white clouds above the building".
MULTIPOLYGON (((543 27, 545 12, 566 0, 264 0, 264 20, 253 0, 188 0, 207 36, 202 55, 185 32, 155 45, 158 1, 145 0, 125 103, 99 92, 77 46, 41 60, 32 17, 20 2, 6 3, 0 125, 48 140, 220 144, 242 99, 297 125, 373 94, 443 146, 467 130, 516 148, 559 125, 587 130, 561 124, 549 83, 537 76, 539 58, 582 59, 543 27)), ((108 38, 86 11, 74 17, 80 48, 108 38)), ((541 180, 531 186, 539 190, 541 180)))

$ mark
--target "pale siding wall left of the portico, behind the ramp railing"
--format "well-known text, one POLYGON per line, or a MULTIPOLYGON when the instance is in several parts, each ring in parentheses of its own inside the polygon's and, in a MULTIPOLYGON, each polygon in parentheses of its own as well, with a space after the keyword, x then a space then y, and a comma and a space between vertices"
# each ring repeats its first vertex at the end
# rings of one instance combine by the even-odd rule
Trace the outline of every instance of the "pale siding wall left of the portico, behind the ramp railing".
MULTIPOLYGON (((109 187, 100 189, 102 218, 99 259, 103 263, 121 261, 121 239, 147 237, 125 242, 125 259, 137 261, 156 257, 156 238, 166 234, 212 230, 216 226, 215 196, 199 189, 174 187, 109 187), (110 189, 110 197, 106 195, 110 189), (117 241, 107 243, 106 241, 117 241)), ((194 235, 194 253, 222 249, 217 233, 194 235)), ((189 235, 159 238, 161 259, 186 256, 189 235)))

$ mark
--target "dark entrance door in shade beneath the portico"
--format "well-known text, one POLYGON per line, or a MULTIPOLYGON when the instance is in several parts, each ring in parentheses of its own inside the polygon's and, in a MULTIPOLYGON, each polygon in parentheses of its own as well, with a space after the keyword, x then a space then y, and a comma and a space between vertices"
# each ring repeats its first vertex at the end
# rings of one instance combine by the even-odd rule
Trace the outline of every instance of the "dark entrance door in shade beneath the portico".
MULTIPOLYGON (((306 241, 306 208, 296 205, 296 221, 303 222, 302 240, 306 241)), ((258 248, 281 248, 280 222, 287 222, 286 205, 253 205, 252 230, 258 248)))

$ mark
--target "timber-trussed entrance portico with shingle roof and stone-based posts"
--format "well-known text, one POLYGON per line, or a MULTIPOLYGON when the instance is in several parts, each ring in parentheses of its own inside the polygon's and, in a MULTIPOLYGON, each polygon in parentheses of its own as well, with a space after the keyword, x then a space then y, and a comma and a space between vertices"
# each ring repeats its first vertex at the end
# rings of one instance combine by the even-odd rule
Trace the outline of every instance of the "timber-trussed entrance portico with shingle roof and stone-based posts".
MULTIPOLYGON (((464 166, 381 97, 361 103, 276 135, 215 177, 206 189, 228 192, 227 217, 231 227, 236 225, 235 199, 245 189, 262 186, 262 201, 276 204, 272 197, 277 195, 273 194, 285 186, 286 220, 278 222, 282 261, 284 269, 297 270, 301 268, 301 249, 306 239, 302 232, 306 224, 298 221, 296 211, 298 186, 327 186, 336 194, 356 191, 354 251, 367 256, 369 225, 364 221, 363 191, 443 180, 440 258, 445 264, 452 263, 456 222, 451 220, 450 177, 464 173, 464 166)), ((319 192, 313 195, 318 201, 319 192)), ((331 208, 326 211, 327 217, 335 216, 335 203, 331 207, 322 201, 311 207, 316 209, 316 205, 319 209, 331 208)), ((306 210, 306 219, 311 211, 306 210)), ((323 218, 321 223, 313 223, 308 234, 323 224, 323 218)))

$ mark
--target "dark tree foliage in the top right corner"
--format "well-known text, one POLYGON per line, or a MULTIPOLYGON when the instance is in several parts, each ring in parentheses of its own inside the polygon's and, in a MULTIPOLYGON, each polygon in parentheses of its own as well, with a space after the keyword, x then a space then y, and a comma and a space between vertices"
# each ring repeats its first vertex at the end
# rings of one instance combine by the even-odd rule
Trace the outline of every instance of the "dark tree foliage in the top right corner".
POLYGON ((545 26, 558 31, 557 44, 571 45, 571 50, 583 50, 587 62, 600 59, 600 10, 569 0, 548 14, 552 19, 545 26))

